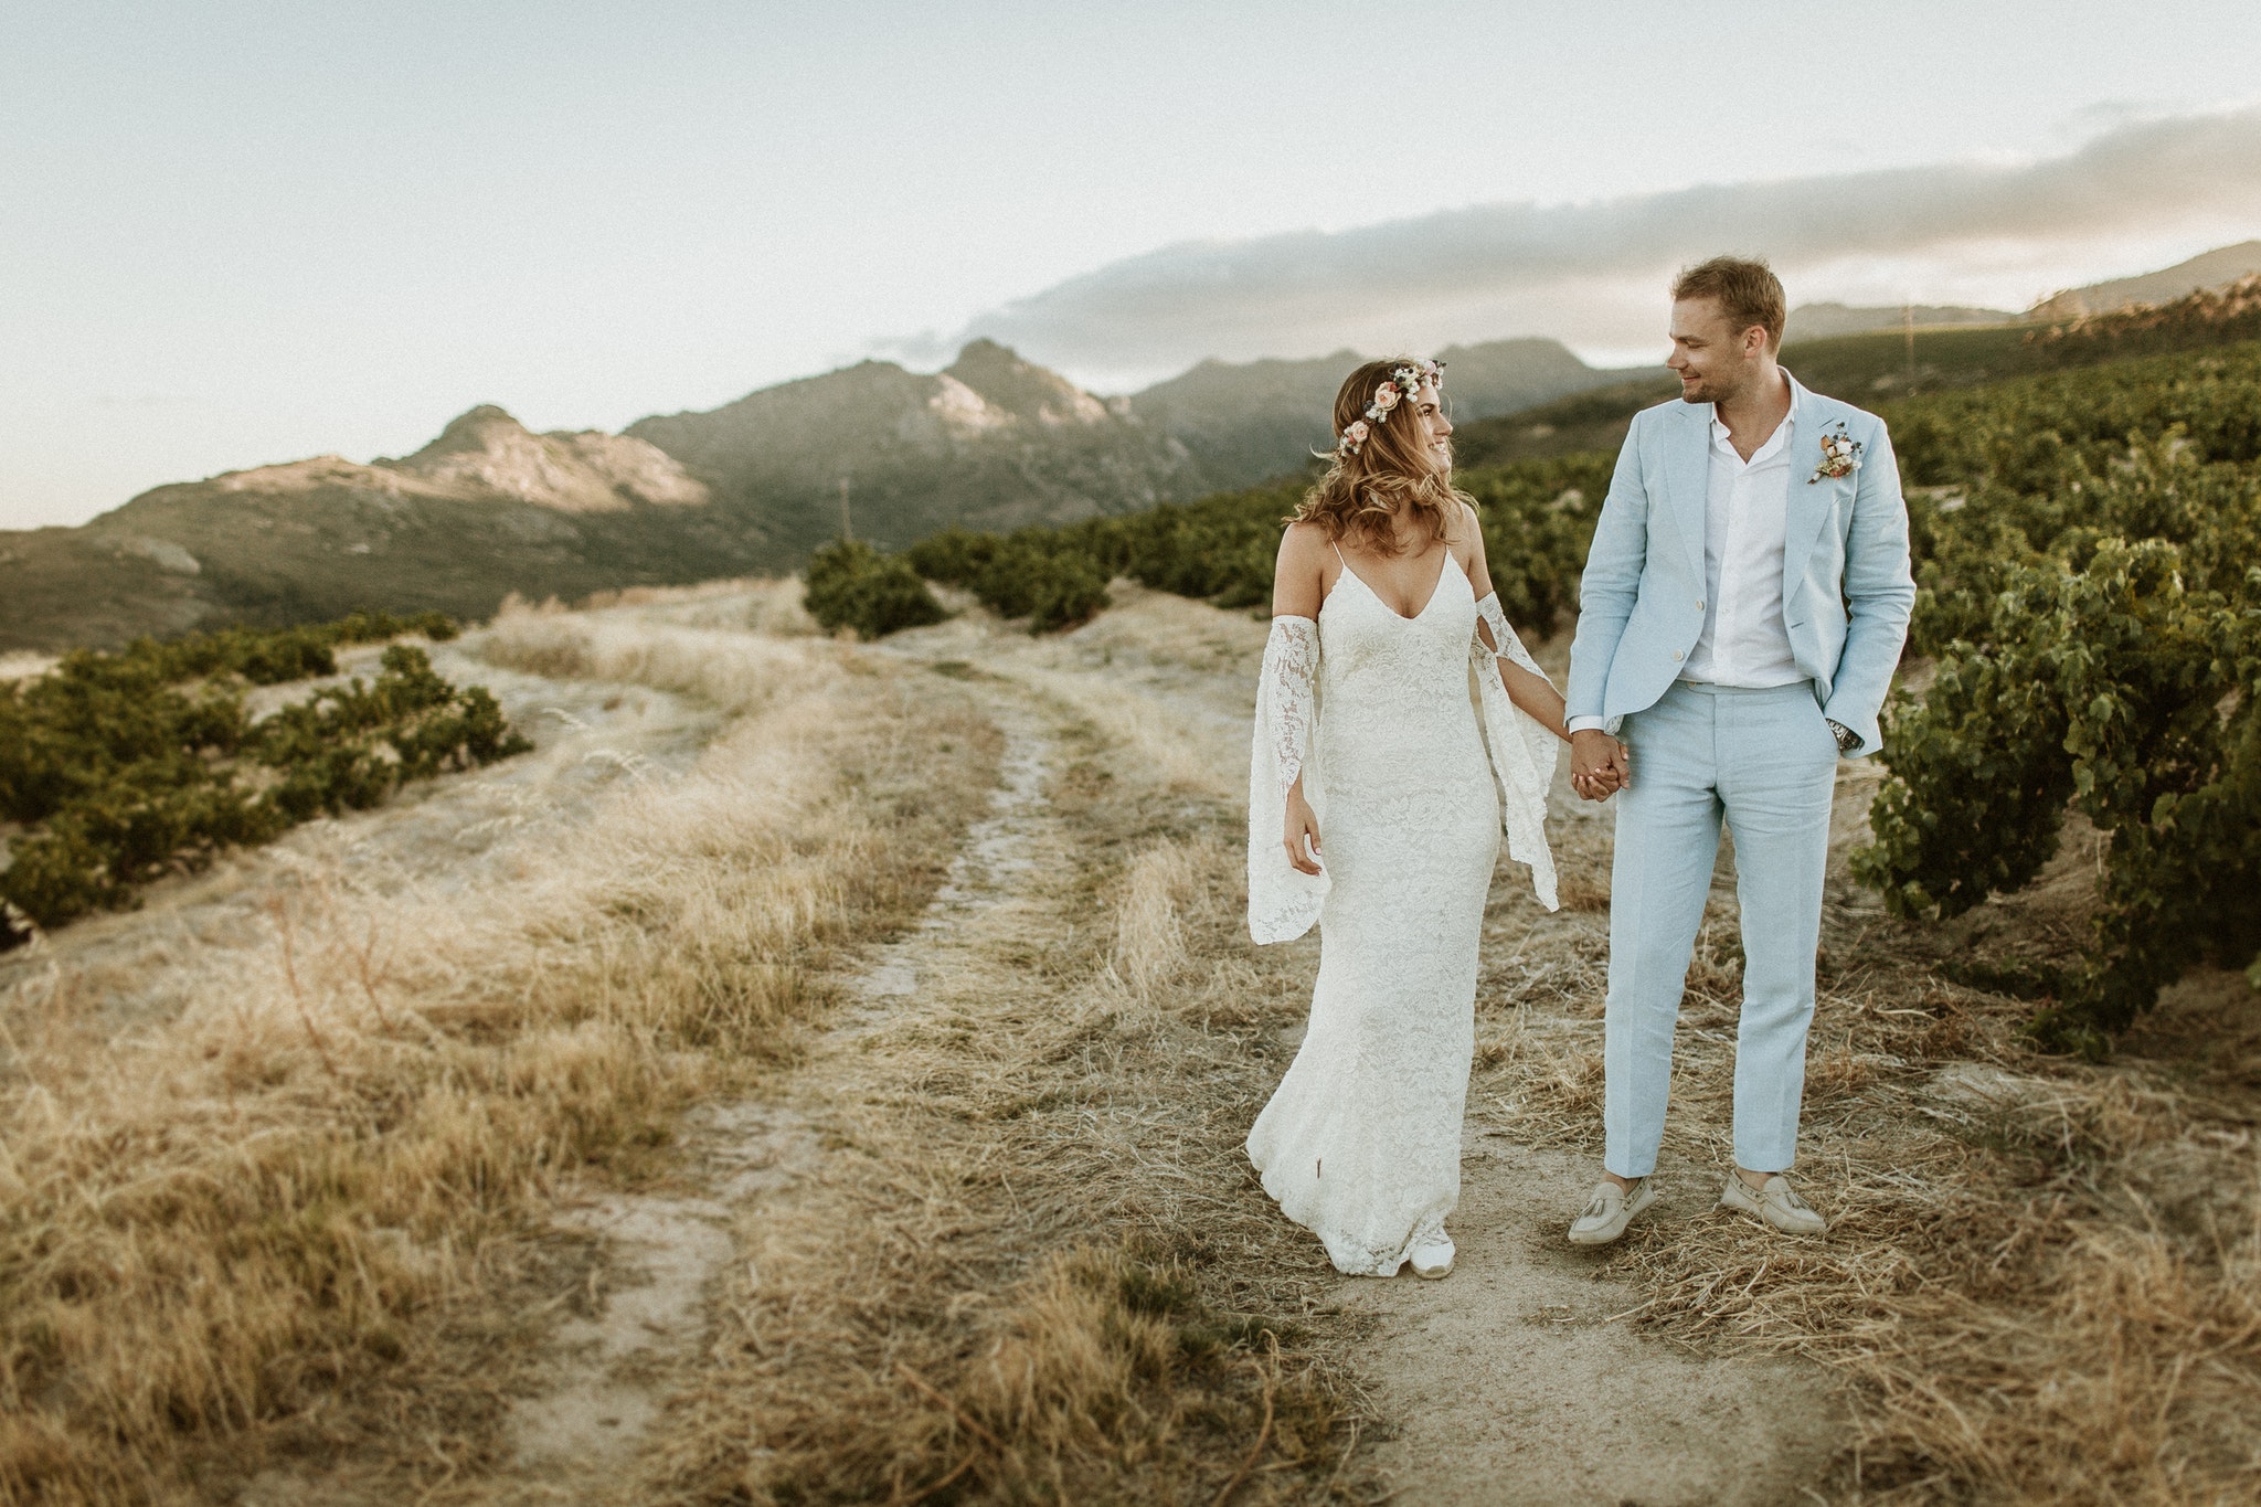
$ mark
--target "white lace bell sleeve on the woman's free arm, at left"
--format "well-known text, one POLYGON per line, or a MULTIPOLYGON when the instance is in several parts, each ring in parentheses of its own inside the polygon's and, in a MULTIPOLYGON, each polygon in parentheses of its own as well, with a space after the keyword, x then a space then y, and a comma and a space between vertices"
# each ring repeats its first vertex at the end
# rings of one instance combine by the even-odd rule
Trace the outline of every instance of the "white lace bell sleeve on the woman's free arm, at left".
POLYGON ((1302 798, 1325 822, 1316 752, 1318 624, 1275 617, 1257 678, 1257 725, 1248 752, 1248 935, 1291 942, 1311 929, 1327 897, 1327 874, 1302 874, 1287 861, 1287 793, 1302 777, 1302 798))

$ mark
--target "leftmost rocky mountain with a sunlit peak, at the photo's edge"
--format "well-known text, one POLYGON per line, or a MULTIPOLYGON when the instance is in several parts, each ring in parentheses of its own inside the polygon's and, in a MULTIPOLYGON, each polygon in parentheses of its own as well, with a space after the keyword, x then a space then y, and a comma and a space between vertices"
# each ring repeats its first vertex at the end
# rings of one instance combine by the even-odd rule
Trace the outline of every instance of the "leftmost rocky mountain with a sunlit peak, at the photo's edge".
POLYGON ((0 648, 364 606, 473 617, 513 590, 685 581, 755 554, 660 450, 477 407, 398 461, 260 465, 151 488, 81 529, 0 533, 0 648))

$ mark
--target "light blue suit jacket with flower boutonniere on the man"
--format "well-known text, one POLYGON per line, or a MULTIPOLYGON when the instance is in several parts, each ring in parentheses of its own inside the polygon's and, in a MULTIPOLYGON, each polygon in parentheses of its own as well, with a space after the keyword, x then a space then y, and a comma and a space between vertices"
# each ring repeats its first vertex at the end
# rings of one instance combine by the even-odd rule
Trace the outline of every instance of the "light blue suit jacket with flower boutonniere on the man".
MULTIPOLYGON (((1703 635, 1709 486, 1712 404, 1675 398, 1632 418, 1578 587, 1569 716, 1601 716, 1614 734, 1680 678, 1703 635)), ((1861 737, 1854 757, 1872 755, 1915 608, 1908 504, 1883 420, 1797 386, 1788 508, 1782 621, 1791 653, 1813 678, 1822 714, 1861 737), (1840 425, 1861 445, 1859 470, 1811 479, 1822 434, 1840 425)))

